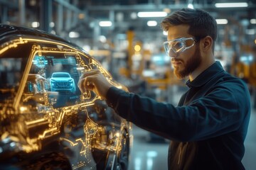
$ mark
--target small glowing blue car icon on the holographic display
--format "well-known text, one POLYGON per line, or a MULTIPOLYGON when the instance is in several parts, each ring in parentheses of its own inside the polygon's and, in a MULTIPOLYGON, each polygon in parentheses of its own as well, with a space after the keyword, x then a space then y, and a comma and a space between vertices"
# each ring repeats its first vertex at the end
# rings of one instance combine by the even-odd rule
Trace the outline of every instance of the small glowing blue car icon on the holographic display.
POLYGON ((54 72, 50 78, 51 91, 75 92, 75 81, 68 72, 54 72))

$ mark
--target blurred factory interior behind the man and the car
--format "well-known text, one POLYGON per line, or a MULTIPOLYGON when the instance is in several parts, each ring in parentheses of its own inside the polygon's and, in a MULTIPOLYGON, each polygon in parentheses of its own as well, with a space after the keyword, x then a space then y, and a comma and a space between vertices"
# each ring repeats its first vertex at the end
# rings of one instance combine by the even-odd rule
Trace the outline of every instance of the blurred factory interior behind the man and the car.
MULTIPOLYGON (((0 23, 46 30, 80 45, 130 91, 176 104, 186 91, 176 79, 159 23, 179 8, 201 8, 216 18, 215 57, 247 82, 252 117, 245 141, 246 169, 256 169, 256 1, 233 0, 0 0, 0 23), (229 5, 229 6, 225 6, 229 5)), ((145 118, 146 119, 146 118, 145 118)), ((168 142, 134 126, 130 169, 166 169, 168 142)))

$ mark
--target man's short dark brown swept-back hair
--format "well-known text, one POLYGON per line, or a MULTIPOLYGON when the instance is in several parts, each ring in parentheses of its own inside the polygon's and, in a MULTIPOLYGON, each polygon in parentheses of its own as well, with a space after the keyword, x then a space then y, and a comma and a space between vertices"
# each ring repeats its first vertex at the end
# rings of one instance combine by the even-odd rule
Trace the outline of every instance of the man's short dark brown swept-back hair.
POLYGON ((217 38, 217 23, 213 16, 201 9, 182 8, 174 11, 170 16, 161 21, 161 28, 168 30, 170 26, 188 25, 188 33, 195 38, 204 38, 207 35, 213 38, 215 42, 217 38))

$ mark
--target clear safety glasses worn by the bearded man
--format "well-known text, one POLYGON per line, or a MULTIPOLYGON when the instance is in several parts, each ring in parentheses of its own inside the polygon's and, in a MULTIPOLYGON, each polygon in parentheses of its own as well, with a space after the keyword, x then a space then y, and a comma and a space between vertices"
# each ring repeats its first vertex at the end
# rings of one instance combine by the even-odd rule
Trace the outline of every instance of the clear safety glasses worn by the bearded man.
POLYGON ((177 38, 164 42, 164 50, 166 51, 166 55, 170 55, 170 50, 172 53, 177 54, 193 47, 195 44, 196 40, 194 38, 177 38))

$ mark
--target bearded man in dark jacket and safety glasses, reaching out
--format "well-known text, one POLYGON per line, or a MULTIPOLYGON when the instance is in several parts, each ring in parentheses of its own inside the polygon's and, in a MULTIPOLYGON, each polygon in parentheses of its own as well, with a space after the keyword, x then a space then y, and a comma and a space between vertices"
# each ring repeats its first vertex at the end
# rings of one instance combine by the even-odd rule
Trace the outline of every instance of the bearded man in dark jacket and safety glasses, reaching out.
POLYGON ((215 19, 183 8, 161 26, 168 31, 164 47, 176 76, 189 78, 178 106, 117 89, 98 71, 80 77, 80 90, 95 91, 122 118, 170 139, 169 169, 245 169, 250 94, 241 79, 215 61, 215 19))

